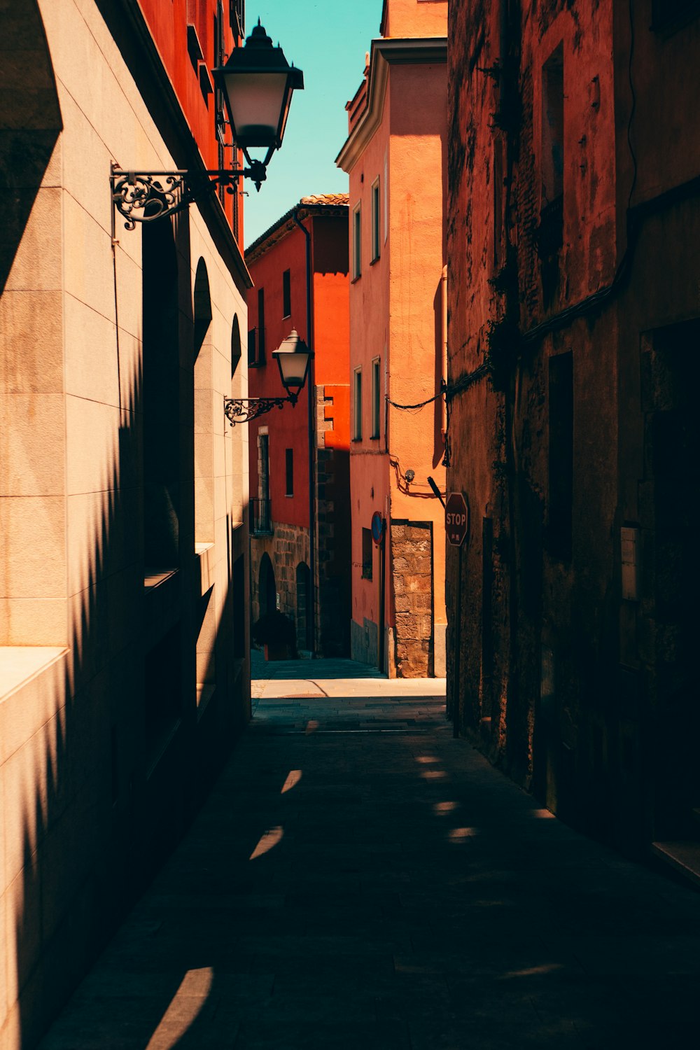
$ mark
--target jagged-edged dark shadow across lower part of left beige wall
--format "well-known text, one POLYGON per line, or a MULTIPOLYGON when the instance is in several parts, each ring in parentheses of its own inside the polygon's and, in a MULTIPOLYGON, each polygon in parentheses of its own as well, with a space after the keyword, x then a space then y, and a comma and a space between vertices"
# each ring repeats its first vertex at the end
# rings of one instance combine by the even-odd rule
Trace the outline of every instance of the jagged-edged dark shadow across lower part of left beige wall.
MULTIPOLYGON (((171 269, 170 277, 179 285, 179 341, 191 348, 193 362, 187 216, 177 224, 176 245, 179 266, 177 272, 171 269)), ((177 360, 177 343, 170 351, 177 360)), ((178 564, 172 566, 177 571, 171 580, 152 591, 145 589, 149 525, 146 521, 142 528, 144 481, 148 488, 152 456, 149 459, 144 449, 145 415, 150 410, 141 369, 139 364, 120 410, 119 433, 105 456, 109 465, 101 479, 102 506, 80 552, 82 576, 70 588, 76 593, 68 625, 70 652, 50 697, 57 714, 25 748, 28 757, 18 801, 23 805, 22 868, 7 908, 8 930, 14 919, 15 934, 10 1005, 19 1000, 22 1047, 37 1044, 125 909, 182 836, 246 718, 242 660, 231 656, 230 587, 220 603, 222 618, 214 624, 210 656, 213 662, 218 652, 225 658, 216 676, 208 668, 201 674, 204 681, 215 679, 217 688, 207 696, 206 707, 197 702, 198 603, 193 595, 201 590, 201 581, 189 545, 194 534, 193 427, 187 408, 177 425, 169 395, 165 413, 171 443, 179 452, 179 547, 175 541, 173 548, 178 564)), ((157 394, 154 390, 149 397, 157 394)), ((160 391, 161 398, 167 394, 160 391)), ((192 368, 181 368, 177 395, 175 404, 187 405, 188 398, 192 403, 192 368)), ((231 551, 230 543, 229 580, 232 572, 235 578, 231 551)), ((240 573, 238 586, 243 586, 240 573)), ((246 649, 245 624, 240 630, 234 655, 246 649)), ((8 953, 12 965, 12 945, 8 953)), ((171 990, 165 989, 162 1001, 157 995, 149 1001, 154 1013, 149 1034, 171 998, 171 990)), ((106 1030, 105 1046, 111 1037, 113 1031, 110 1036, 106 1030)), ((147 1043, 148 1036, 144 1046, 147 1043)))

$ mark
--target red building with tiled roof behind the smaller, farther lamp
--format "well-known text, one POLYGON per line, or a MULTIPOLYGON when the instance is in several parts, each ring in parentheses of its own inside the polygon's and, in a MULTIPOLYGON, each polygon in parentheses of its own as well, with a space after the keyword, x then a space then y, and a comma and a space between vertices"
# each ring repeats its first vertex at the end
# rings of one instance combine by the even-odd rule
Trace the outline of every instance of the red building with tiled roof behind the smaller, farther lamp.
POLYGON ((250 424, 252 620, 255 623, 277 607, 296 625, 297 651, 345 656, 349 651, 346 195, 303 197, 248 248, 246 259, 255 282, 249 293, 251 395, 283 395, 271 355, 293 328, 302 338, 311 331, 314 351, 298 404, 250 424))

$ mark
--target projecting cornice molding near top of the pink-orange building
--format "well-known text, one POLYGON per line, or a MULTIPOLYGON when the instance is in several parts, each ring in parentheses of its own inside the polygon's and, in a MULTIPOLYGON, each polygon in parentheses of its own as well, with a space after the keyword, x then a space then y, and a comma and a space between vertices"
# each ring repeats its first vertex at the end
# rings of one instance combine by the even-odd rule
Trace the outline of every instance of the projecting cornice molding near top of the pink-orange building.
POLYGON ((380 126, 390 65, 427 65, 446 62, 447 37, 396 37, 388 40, 383 38, 373 40, 365 109, 338 153, 336 165, 349 174, 380 126))

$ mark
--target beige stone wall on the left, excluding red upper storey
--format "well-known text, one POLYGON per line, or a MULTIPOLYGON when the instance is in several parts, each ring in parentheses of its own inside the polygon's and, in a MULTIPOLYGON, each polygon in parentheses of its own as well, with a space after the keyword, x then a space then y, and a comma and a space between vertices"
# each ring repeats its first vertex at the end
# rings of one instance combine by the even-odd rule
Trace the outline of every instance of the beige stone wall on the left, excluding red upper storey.
MULTIPOLYGON (((38 9, 51 61, 30 72, 58 98, 62 130, 29 187, 0 298, 2 1050, 31 1046, 65 1000, 250 697, 245 627, 232 635, 247 618, 247 428, 222 412, 225 395, 247 393, 245 359, 231 366, 245 290, 196 207, 172 222, 178 393, 163 414, 179 553, 167 578, 146 581, 142 231, 118 219, 112 240, 109 173, 111 161, 177 165, 93 0, 38 9), (195 364, 200 259, 212 315, 195 364), (172 667, 160 668, 170 638, 172 667), (161 670, 174 711, 161 710, 161 670)), ((1 74, 0 92, 15 111, 1 74)), ((0 135, 0 163, 15 163, 6 148, 0 135)))

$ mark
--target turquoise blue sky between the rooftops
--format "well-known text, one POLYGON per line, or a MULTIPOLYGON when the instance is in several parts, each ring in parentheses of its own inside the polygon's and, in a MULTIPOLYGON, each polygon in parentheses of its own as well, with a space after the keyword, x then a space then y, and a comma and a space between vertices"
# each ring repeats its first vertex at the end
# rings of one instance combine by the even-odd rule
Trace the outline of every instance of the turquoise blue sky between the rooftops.
POLYGON ((304 90, 292 99, 282 148, 273 154, 260 192, 246 181, 246 245, 300 197, 347 190, 347 175, 335 160, 347 133, 345 103, 360 86, 365 51, 379 36, 382 0, 247 0, 247 35, 258 17, 287 61, 303 70, 304 90))

